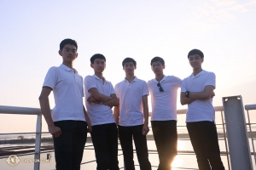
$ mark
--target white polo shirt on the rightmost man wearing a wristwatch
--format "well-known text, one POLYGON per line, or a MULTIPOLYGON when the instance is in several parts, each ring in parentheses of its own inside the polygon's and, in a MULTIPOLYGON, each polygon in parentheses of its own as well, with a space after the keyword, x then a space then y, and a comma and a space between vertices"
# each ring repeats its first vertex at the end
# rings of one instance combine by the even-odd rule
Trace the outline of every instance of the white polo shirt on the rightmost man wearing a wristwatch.
MULTIPOLYGON (((191 74, 182 82, 181 92, 202 92, 206 86, 215 88, 215 74, 213 72, 201 71, 196 76, 191 74)), ((196 99, 189 104, 186 122, 214 121, 215 111, 211 99, 196 99)))

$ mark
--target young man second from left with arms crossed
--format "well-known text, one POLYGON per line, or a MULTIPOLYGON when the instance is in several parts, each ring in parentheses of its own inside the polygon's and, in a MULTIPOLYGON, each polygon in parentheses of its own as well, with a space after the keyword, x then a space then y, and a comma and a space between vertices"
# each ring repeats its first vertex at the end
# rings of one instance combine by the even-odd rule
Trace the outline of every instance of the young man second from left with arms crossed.
POLYGON ((94 54, 90 67, 95 74, 84 78, 85 105, 92 125, 91 139, 95 148, 97 170, 118 170, 118 129, 112 106, 118 105, 113 85, 103 77, 106 58, 94 54))

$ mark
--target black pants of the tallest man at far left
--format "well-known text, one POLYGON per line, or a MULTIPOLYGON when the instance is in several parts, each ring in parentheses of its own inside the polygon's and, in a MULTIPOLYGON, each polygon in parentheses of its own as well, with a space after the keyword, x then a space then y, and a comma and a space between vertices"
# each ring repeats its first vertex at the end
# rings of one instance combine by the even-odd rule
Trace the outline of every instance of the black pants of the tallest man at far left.
POLYGON ((59 121, 61 136, 54 139, 56 170, 79 170, 87 139, 87 123, 59 121))

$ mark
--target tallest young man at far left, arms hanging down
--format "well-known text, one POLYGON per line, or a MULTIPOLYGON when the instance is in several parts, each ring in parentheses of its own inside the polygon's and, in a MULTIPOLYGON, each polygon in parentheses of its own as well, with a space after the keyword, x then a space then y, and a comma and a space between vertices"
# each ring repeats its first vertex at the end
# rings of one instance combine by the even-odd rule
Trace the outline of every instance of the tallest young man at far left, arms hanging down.
POLYGON ((59 67, 49 69, 39 97, 41 111, 54 139, 57 170, 80 169, 87 124, 88 130, 91 129, 83 105, 83 77, 73 68, 73 61, 78 57, 77 50, 78 45, 74 40, 65 39, 61 42, 59 54, 63 62, 59 67), (49 94, 52 90, 55 107, 50 111, 49 94))

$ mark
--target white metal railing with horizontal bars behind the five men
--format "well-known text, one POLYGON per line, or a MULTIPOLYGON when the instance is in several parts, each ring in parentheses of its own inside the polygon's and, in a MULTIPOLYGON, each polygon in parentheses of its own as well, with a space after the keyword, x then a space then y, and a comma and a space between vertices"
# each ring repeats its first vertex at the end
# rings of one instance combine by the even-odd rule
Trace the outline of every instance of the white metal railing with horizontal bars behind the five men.
MULTIPOLYGON (((223 116, 224 108, 223 108, 223 106, 215 106, 214 109, 215 109, 215 112, 220 112, 220 114, 221 114, 222 123, 217 124, 217 125, 223 127, 224 144, 225 144, 225 149, 226 149, 224 155, 227 156, 228 167, 229 167, 229 170, 230 170, 230 157, 229 157, 229 150, 228 150, 227 138, 226 138, 226 133, 225 133, 224 116, 223 116)), ((252 129, 251 129, 251 124, 252 123, 250 122, 248 111, 256 110, 256 105, 245 105, 245 109, 247 110, 247 114, 248 114, 248 125, 250 127, 250 133, 251 133, 251 138, 252 138, 252 143, 253 143, 254 139, 253 139, 253 134, 252 134, 252 129)), ((186 111, 187 111, 186 109, 177 110, 177 115, 185 114, 186 111)), ((34 159, 40 159, 40 153, 43 153, 40 150, 41 149, 41 147, 40 147, 41 146, 41 134, 42 134, 42 113, 41 113, 41 110, 38 109, 38 108, 27 108, 27 107, 15 107, 15 106, 0 105, 0 114, 20 114, 20 115, 35 115, 35 116, 38 116, 37 117, 37 125, 36 125, 35 152, 32 153, 32 154, 34 154, 34 159)), ((151 115, 151 114, 149 113, 149 115, 151 115)), ((254 123, 254 124, 256 124, 256 123, 254 123)), ((185 127, 185 126, 180 126, 180 127, 185 127)), ((178 139, 178 140, 184 140, 184 139, 178 139)), ((156 150, 154 150, 154 151, 156 151, 156 150)), ((178 155, 179 154, 190 155, 191 153, 195 154, 194 151, 182 151, 182 152, 178 152, 178 155)), ((256 163, 254 145, 253 145, 253 154, 254 154, 254 159, 255 159, 255 163, 256 163)), ((94 162, 94 161, 82 162, 81 165, 86 164, 86 163, 90 163, 90 162, 94 162)), ((34 170, 39 170, 39 168, 40 168, 39 163, 40 162, 34 162, 34 170)), ((125 168, 125 167, 122 167, 122 168, 125 168)))

